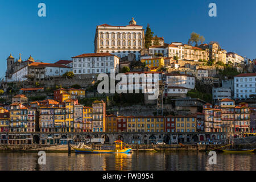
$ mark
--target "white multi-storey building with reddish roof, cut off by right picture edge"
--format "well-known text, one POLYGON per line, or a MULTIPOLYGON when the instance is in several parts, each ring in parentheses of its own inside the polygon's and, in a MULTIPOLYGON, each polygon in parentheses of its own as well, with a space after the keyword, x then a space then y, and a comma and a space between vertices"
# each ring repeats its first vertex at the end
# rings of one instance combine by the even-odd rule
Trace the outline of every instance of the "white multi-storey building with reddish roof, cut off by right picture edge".
POLYGON ((234 98, 249 98, 256 94, 256 73, 242 73, 234 77, 234 98))

